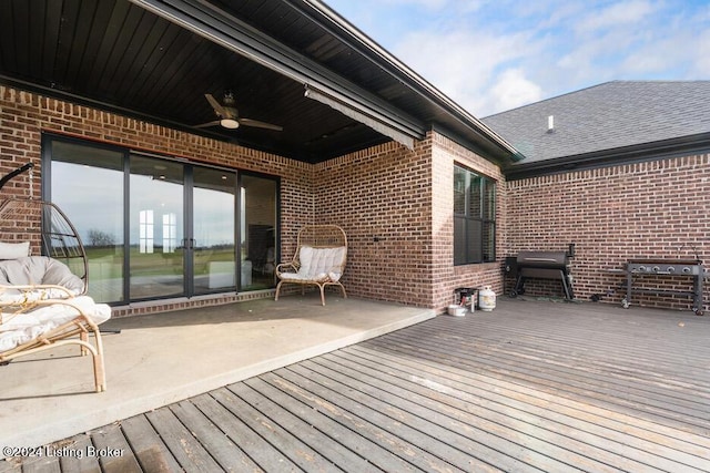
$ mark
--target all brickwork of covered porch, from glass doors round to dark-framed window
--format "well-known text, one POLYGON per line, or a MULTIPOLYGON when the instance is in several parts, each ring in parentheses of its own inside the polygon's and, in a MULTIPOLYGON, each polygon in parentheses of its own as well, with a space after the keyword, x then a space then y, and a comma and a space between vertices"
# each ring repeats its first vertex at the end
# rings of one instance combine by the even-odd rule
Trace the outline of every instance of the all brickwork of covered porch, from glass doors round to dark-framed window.
MULTIPOLYGON (((500 294, 500 264, 453 266, 454 163, 497 181, 497 254, 505 254, 506 187, 499 168, 438 133, 414 151, 387 143, 316 165, 0 86, 0 173, 27 162, 41 174, 41 134, 61 133, 195 163, 281 176, 281 255, 290 260, 306 223, 341 225, 348 236, 348 295, 444 311, 456 287, 490 285, 500 294)), ((27 177, 8 193, 27 195, 27 177)), ((268 294, 266 294, 268 296, 268 294)), ((148 313, 234 300, 141 304, 148 313)))

